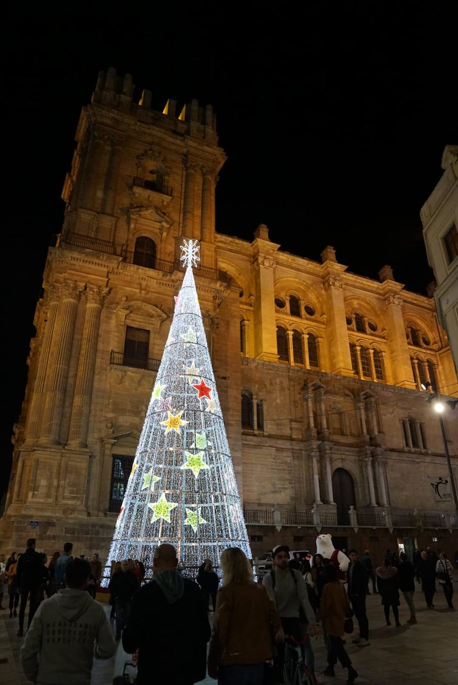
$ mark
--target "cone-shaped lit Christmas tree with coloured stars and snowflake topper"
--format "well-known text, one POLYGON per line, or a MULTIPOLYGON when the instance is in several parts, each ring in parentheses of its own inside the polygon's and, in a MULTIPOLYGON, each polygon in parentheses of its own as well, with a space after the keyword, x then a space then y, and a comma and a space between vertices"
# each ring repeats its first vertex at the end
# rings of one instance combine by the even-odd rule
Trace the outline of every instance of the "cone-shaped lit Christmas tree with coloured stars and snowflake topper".
POLYGON ((151 566, 167 542, 194 575, 226 547, 251 551, 195 289, 197 240, 181 249, 187 269, 108 561, 151 566))

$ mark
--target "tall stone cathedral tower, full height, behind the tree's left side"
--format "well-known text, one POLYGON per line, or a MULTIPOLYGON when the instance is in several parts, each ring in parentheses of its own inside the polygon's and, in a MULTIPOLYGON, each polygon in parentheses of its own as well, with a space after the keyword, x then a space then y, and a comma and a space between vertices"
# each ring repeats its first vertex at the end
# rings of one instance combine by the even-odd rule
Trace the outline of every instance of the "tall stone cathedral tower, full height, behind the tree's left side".
POLYGON ((104 549, 117 515, 115 461, 132 458, 138 442, 180 287, 183 237, 200 240, 207 321, 226 287, 215 249, 215 183, 226 155, 213 108, 192 100, 177 109, 169 99, 156 111, 151 91, 138 103, 133 94, 130 74, 100 72, 77 125, 14 427, 0 521, 6 548, 33 534, 41 547, 66 536, 104 549))

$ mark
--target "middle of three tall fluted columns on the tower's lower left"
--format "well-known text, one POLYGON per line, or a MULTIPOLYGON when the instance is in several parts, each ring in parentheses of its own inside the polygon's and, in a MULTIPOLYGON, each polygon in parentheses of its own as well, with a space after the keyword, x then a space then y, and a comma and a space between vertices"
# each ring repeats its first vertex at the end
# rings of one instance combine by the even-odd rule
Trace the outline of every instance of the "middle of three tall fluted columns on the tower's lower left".
POLYGON ((56 346, 53 349, 53 359, 45 383, 45 412, 40 434, 40 442, 51 445, 56 445, 59 441, 73 332, 80 299, 80 291, 75 285, 66 284, 62 286, 60 292, 61 314, 55 336, 53 336, 56 338, 56 346))

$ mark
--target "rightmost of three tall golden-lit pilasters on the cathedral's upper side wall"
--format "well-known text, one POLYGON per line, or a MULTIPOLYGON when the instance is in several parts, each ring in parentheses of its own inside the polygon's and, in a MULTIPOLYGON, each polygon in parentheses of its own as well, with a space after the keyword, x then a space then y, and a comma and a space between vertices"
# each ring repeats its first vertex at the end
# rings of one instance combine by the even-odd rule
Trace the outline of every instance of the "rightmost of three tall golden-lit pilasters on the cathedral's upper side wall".
POLYGON ((413 389, 415 383, 402 317, 402 299, 394 293, 389 293, 384 302, 385 312, 387 312, 387 344, 391 362, 391 380, 394 385, 413 389))

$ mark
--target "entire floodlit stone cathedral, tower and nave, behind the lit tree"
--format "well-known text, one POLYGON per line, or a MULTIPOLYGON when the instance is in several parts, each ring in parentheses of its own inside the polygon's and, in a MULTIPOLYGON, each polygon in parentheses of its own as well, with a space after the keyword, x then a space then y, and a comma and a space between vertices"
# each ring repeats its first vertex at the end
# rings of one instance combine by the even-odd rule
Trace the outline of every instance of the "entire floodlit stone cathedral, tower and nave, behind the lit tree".
MULTIPOLYGON (((162 112, 132 77, 100 73, 82 109, 29 355, 0 544, 33 534, 106 557, 183 273, 195 280, 245 520, 256 555, 317 531, 376 559, 390 547, 458 547, 444 445, 422 390, 458 395, 434 300, 215 232, 226 159, 212 107, 162 112), (442 479, 442 482, 441 482, 442 479), (30 522, 36 527, 32 528, 30 522), (38 523, 37 523, 38 522, 38 523), (455 530, 454 530, 455 529, 455 530)), ((287 227, 285 227, 287 229, 287 227)), ((458 414, 458 412, 457 412, 458 414)), ((458 421, 444 414, 457 470, 458 421)))

